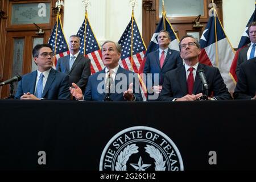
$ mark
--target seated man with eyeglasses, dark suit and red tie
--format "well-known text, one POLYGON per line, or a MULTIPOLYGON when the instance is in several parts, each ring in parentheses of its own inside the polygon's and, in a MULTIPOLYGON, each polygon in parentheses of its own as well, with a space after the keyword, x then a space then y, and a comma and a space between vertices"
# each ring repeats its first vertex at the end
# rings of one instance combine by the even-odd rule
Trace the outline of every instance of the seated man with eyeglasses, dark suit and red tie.
POLYGON ((209 100, 232 99, 218 68, 199 63, 200 44, 191 35, 181 38, 180 56, 183 67, 166 73, 160 101, 195 101, 203 96, 202 84, 197 71, 203 70, 208 84, 209 100))

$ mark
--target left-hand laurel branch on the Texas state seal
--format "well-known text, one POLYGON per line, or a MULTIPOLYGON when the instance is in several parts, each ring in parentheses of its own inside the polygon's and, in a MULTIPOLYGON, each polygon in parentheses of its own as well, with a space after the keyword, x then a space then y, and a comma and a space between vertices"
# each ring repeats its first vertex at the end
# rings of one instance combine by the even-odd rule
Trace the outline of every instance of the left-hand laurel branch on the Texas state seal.
POLYGON ((115 163, 116 171, 126 171, 126 163, 129 160, 130 156, 138 153, 138 148, 136 144, 128 145, 120 152, 117 157, 117 162, 115 163))

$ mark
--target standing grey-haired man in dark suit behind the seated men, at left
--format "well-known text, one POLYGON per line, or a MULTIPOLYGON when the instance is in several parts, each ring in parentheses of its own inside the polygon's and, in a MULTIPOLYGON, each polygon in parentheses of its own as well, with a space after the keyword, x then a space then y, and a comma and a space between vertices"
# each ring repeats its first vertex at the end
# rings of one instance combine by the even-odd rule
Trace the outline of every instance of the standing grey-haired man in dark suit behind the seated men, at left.
POLYGON ((76 83, 84 93, 90 76, 90 59, 79 53, 80 38, 77 35, 69 37, 70 55, 60 57, 57 61, 56 70, 69 76, 69 85, 76 83))

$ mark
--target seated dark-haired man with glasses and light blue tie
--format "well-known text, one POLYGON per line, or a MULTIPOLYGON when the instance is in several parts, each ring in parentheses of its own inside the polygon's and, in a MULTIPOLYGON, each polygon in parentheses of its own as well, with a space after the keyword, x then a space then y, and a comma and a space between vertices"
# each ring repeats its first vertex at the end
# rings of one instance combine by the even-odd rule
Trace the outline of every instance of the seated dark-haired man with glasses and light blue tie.
POLYGON ((32 53, 38 70, 22 76, 15 97, 20 100, 69 100, 68 76, 52 69, 52 47, 38 44, 32 53))

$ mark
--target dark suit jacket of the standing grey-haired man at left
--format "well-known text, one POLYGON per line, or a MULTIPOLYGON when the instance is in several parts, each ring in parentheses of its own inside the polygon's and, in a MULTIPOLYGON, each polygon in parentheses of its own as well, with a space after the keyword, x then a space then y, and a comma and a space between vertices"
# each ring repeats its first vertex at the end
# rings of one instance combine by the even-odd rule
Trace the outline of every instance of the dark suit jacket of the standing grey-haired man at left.
POLYGON ((69 71, 69 57, 70 55, 61 57, 57 61, 56 70, 66 73, 69 76, 69 85, 74 82, 81 88, 82 93, 84 93, 88 77, 90 76, 90 59, 79 53, 69 71))

